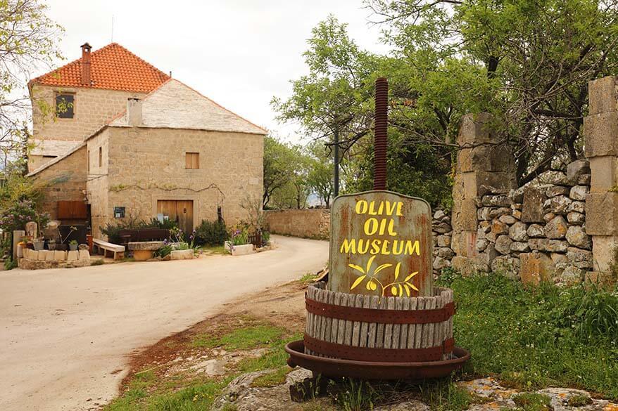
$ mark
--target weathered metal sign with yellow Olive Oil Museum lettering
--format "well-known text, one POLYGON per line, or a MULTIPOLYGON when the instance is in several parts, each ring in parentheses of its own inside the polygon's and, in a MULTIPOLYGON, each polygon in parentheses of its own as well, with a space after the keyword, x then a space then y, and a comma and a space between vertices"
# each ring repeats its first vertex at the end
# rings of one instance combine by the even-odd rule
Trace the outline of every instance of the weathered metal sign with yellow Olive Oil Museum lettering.
POLYGON ((368 191, 331 209, 328 288, 377 296, 430 296, 431 207, 420 198, 368 191))

